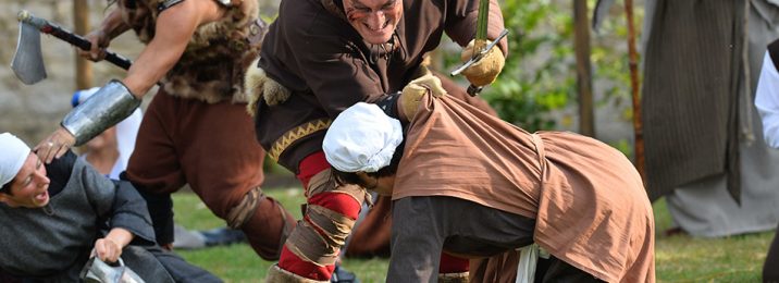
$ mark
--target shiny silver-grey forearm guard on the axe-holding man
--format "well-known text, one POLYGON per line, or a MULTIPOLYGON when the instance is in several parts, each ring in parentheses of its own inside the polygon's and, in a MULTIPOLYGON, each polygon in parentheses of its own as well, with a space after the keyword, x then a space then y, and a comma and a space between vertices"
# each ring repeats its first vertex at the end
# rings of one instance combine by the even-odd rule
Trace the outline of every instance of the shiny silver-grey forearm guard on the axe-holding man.
POLYGON ((133 96, 122 82, 112 79, 71 110, 61 124, 76 138, 75 146, 81 146, 129 116, 138 106, 140 99, 133 96))

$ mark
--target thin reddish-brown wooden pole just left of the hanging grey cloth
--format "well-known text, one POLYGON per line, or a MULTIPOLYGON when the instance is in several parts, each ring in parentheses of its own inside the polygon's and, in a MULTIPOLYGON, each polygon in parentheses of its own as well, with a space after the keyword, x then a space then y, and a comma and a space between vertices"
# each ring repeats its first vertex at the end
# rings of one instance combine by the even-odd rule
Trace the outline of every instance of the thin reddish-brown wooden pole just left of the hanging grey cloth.
POLYGON ((641 122, 641 96, 639 82, 639 52, 635 49, 635 26, 633 24, 633 0, 625 0, 625 15, 628 21, 628 56, 630 66, 630 87, 633 98, 633 132, 635 142, 635 169, 644 177, 644 130, 641 122))

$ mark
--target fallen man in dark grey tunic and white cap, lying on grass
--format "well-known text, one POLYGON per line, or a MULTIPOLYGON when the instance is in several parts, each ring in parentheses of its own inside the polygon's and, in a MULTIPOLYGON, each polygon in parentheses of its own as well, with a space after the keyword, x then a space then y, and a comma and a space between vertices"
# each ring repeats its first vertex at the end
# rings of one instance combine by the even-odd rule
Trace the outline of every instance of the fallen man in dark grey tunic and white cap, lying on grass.
POLYGON ((0 148, 0 282, 79 282, 92 257, 121 257, 146 282, 221 282, 154 244, 146 202, 128 182, 70 150, 44 164, 10 133, 0 148))

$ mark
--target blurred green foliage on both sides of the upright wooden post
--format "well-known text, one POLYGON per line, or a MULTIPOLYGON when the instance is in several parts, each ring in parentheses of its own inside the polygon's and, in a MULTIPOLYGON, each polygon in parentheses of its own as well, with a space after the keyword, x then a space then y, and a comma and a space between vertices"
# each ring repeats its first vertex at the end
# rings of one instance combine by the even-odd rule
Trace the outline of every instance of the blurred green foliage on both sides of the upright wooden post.
MULTIPOLYGON (((623 109, 631 102, 627 27, 620 4, 615 3, 601 33, 592 34, 596 108, 623 109)), ((570 128, 577 109, 572 2, 505 0, 502 9, 509 29, 509 56, 498 79, 482 96, 500 118, 528 131, 570 128)), ((640 23, 642 14, 638 10, 635 14, 640 23)), ((459 58, 450 54, 445 63, 458 65, 459 58)), ((626 121, 630 118, 625 116, 626 121)))

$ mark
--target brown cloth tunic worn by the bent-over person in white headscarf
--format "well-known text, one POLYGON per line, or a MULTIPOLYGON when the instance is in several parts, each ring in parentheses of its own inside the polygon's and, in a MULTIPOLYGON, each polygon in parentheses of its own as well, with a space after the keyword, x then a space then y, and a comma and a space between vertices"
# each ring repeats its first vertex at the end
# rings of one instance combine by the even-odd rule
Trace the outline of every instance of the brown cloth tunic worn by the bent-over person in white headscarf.
POLYGON ((533 218, 535 243, 556 258, 607 282, 655 280, 641 177, 598 140, 530 134, 457 99, 425 98, 395 180, 393 200, 448 196, 533 218))

